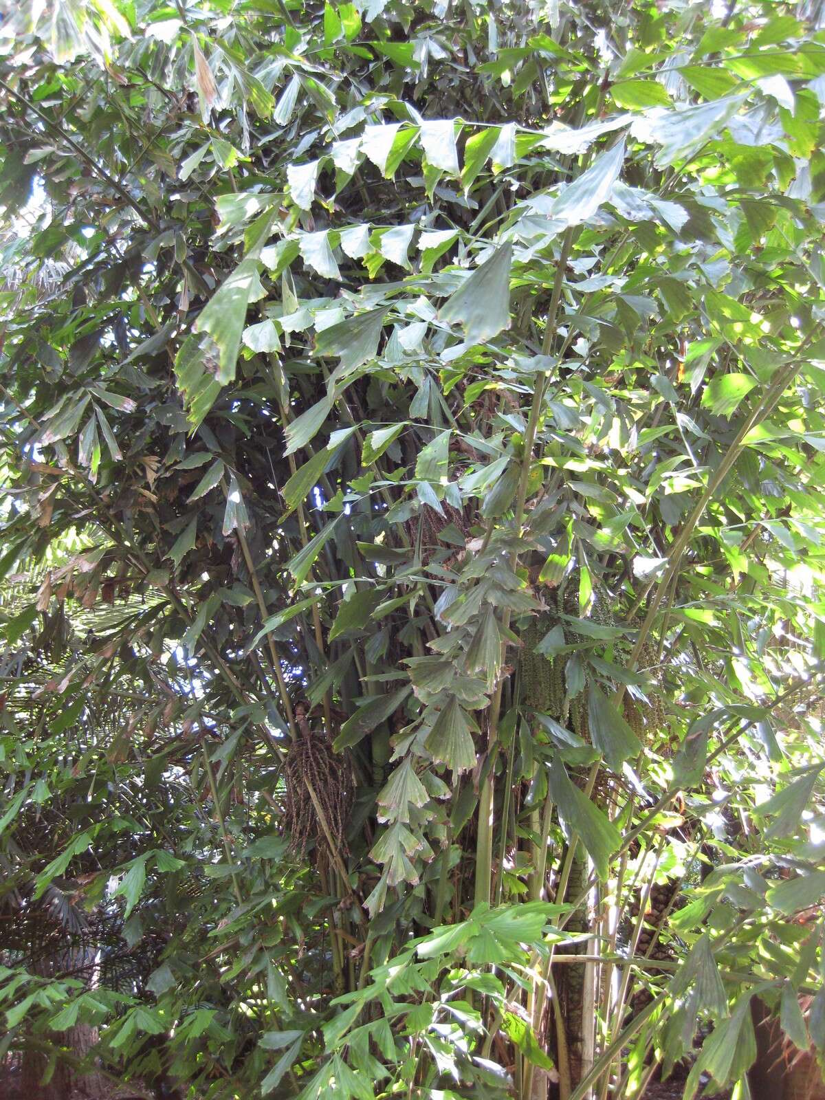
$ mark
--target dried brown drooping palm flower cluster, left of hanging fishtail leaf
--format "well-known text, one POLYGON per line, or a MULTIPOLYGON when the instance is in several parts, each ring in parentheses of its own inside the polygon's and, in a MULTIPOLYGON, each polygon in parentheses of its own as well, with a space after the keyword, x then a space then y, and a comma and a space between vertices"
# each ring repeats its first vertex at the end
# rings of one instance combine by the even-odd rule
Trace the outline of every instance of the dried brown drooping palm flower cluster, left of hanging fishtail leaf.
POLYGON ((327 864, 329 831, 340 855, 346 853, 346 824, 353 799, 352 771, 346 759, 332 750, 324 733, 316 734, 309 725, 308 706, 299 702, 295 707, 298 737, 284 761, 286 782, 286 829, 290 847, 302 857, 310 842, 315 842, 316 859, 327 864), (311 788, 311 793, 310 793, 311 788), (327 825, 319 818, 318 806, 327 825))

